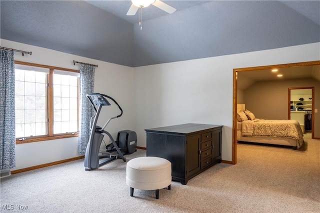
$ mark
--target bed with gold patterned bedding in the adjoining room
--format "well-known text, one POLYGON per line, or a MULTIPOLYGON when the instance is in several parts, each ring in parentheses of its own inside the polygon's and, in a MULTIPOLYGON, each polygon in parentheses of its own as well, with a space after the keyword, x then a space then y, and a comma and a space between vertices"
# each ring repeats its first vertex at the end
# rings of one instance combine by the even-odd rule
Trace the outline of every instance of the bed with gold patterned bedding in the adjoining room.
POLYGON ((237 141, 301 147, 303 133, 298 121, 255 118, 244 104, 237 105, 237 141))

